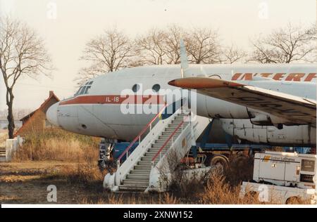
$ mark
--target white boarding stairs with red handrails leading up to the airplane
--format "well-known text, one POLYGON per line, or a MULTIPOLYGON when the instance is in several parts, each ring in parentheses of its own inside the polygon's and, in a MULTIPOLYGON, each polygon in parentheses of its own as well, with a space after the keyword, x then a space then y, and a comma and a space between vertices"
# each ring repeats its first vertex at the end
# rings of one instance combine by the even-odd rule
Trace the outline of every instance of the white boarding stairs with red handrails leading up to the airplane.
POLYGON ((177 153, 175 161, 180 161, 209 124, 208 118, 198 117, 192 112, 180 108, 173 115, 159 120, 153 126, 159 116, 160 113, 151 119, 125 152, 118 157, 118 169, 115 174, 106 175, 105 187, 112 191, 144 192, 159 189, 157 184, 160 169, 163 164, 166 164, 168 154, 177 153), (149 132, 141 140, 145 131, 149 132), (139 141, 139 145, 128 155, 130 148, 137 141, 139 141), (121 162, 123 155, 126 155, 127 158, 121 162))

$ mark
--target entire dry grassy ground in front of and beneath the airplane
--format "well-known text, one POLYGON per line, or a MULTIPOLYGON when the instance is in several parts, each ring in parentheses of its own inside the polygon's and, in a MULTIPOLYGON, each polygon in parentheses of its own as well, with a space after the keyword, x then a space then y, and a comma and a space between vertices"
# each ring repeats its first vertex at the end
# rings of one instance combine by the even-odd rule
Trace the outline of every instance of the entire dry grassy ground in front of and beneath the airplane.
POLYGON ((56 185, 58 204, 261 204, 239 198, 241 181, 252 176, 251 159, 204 181, 180 181, 162 194, 108 192, 102 188, 106 172, 97 166, 98 143, 61 129, 26 136, 13 162, 0 163, 0 202, 47 204, 46 188, 56 185))

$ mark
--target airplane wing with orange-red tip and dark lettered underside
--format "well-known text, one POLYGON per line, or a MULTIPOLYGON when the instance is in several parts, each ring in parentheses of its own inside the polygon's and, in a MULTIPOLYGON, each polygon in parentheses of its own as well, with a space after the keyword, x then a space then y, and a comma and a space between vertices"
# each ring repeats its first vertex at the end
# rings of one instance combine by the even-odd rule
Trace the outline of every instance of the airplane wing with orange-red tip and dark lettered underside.
POLYGON ((206 77, 175 79, 168 84, 183 89, 197 89, 198 93, 206 96, 267 112, 293 124, 316 126, 316 100, 206 77))

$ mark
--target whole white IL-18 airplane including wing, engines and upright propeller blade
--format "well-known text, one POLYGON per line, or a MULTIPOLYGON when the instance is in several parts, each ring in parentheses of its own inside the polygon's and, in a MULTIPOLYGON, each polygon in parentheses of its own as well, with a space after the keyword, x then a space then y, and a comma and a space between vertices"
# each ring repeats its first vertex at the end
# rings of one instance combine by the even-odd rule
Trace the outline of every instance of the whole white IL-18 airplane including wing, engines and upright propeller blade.
POLYGON ((185 89, 194 95, 197 115, 219 119, 238 140, 316 147, 316 65, 189 65, 182 42, 180 50, 180 65, 132 67, 89 79, 74 96, 52 105, 47 119, 67 131, 132 141, 168 103, 170 91, 185 89))

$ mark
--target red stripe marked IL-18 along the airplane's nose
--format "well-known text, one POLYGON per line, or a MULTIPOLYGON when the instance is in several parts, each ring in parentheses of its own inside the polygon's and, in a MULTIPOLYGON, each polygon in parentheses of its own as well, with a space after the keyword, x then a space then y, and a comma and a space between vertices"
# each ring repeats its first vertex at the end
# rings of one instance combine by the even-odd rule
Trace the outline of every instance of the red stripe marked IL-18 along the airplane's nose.
POLYGON ((164 104, 163 96, 159 95, 108 95, 108 96, 77 96, 64 100, 59 105, 79 104, 164 104))

